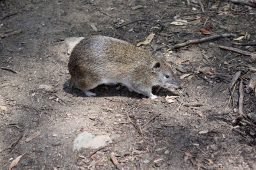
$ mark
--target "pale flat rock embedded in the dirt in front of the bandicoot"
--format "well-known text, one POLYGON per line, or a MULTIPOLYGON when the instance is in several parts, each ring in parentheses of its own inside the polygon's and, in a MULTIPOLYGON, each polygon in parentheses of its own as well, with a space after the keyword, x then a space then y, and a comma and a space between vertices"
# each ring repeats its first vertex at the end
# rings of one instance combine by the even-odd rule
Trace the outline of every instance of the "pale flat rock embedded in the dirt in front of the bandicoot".
POLYGON ((93 148, 97 149, 102 146, 106 146, 107 142, 110 142, 111 139, 108 135, 98 135, 94 136, 89 132, 82 132, 77 135, 73 142, 73 150, 79 151, 82 148, 93 148))

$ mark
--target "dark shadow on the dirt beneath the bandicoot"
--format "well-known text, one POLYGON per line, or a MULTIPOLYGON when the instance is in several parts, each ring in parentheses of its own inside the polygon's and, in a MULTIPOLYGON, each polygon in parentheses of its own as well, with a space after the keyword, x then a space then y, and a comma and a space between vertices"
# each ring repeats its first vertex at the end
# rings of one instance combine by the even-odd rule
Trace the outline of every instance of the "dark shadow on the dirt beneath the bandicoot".
MULTIPOLYGON (((80 97, 88 97, 86 94, 80 90, 76 89, 74 87, 69 87, 69 81, 66 81, 63 85, 63 89, 66 93, 70 93, 75 96, 80 97)), ((131 97, 131 98, 148 98, 145 95, 136 93, 135 91, 129 91, 125 85, 117 84, 117 85, 98 85, 98 87, 91 89, 93 93, 96 93, 96 97, 114 97, 114 96, 123 96, 123 97, 131 97)), ((166 96, 166 95, 177 95, 173 93, 172 91, 165 89, 163 87, 153 87, 152 93, 154 95, 158 96, 166 96)))

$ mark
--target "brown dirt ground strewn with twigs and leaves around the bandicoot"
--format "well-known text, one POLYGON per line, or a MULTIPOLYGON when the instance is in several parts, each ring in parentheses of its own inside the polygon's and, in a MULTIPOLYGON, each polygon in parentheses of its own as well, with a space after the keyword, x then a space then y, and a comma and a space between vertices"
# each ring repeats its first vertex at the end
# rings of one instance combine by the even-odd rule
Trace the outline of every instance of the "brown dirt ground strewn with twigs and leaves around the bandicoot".
POLYGON ((0 66, 17 74, 0 69, 0 169, 22 154, 13 169, 117 169, 111 152, 124 169, 256 169, 256 124, 247 116, 256 114, 254 92, 245 93, 246 118, 237 113, 239 82, 246 89, 256 64, 218 47, 255 53, 255 46, 232 43, 256 42, 256 9, 201 0, 202 13, 195 2, 1 0, 0 66), (189 24, 170 24, 175 19, 189 24), (156 87, 156 101, 122 85, 100 85, 92 90, 96 97, 77 89, 69 93, 65 38, 104 35, 137 44, 152 32, 152 42, 141 48, 154 53, 162 47, 183 89, 156 87), (214 34, 235 36, 171 48, 214 34), (241 76, 230 99, 237 71, 241 76), (170 103, 166 95, 179 98, 170 103), (73 151, 73 140, 84 131, 112 141, 97 152, 73 151), (34 132, 40 134, 26 142, 34 132))

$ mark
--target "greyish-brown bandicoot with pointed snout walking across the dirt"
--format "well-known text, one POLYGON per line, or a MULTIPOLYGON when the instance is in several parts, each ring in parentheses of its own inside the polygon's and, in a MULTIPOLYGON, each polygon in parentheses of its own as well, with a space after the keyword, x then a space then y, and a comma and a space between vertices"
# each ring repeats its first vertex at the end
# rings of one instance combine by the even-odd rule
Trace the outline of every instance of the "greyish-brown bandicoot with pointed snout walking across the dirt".
POLYGON ((156 98, 152 94, 154 85, 181 87, 162 58, 128 42, 105 36, 81 40, 71 52, 68 67, 71 85, 88 96, 95 95, 89 90, 102 83, 123 83, 130 90, 152 99, 156 98), (169 81, 165 80, 165 75, 170 76, 169 81))

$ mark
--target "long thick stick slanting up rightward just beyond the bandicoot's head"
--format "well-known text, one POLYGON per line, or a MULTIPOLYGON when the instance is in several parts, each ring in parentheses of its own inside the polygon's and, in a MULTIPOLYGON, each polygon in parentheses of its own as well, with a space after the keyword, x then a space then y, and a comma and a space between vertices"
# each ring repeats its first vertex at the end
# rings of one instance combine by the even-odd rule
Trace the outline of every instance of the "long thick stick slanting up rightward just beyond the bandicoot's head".
POLYGON ((183 46, 187 46, 187 45, 190 45, 190 44, 199 44, 201 42, 206 42, 206 41, 210 41, 210 40, 214 40, 216 38, 227 38, 227 37, 233 37, 234 34, 217 34, 217 35, 214 35, 214 36, 208 36, 208 37, 205 37, 205 38, 201 38, 201 39, 195 39, 195 40, 189 40, 187 42, 183 42, 181 44, 176 44, 174 46, 172 46, 171 49, 175 49, 175 48, 181 48, 183 46))

